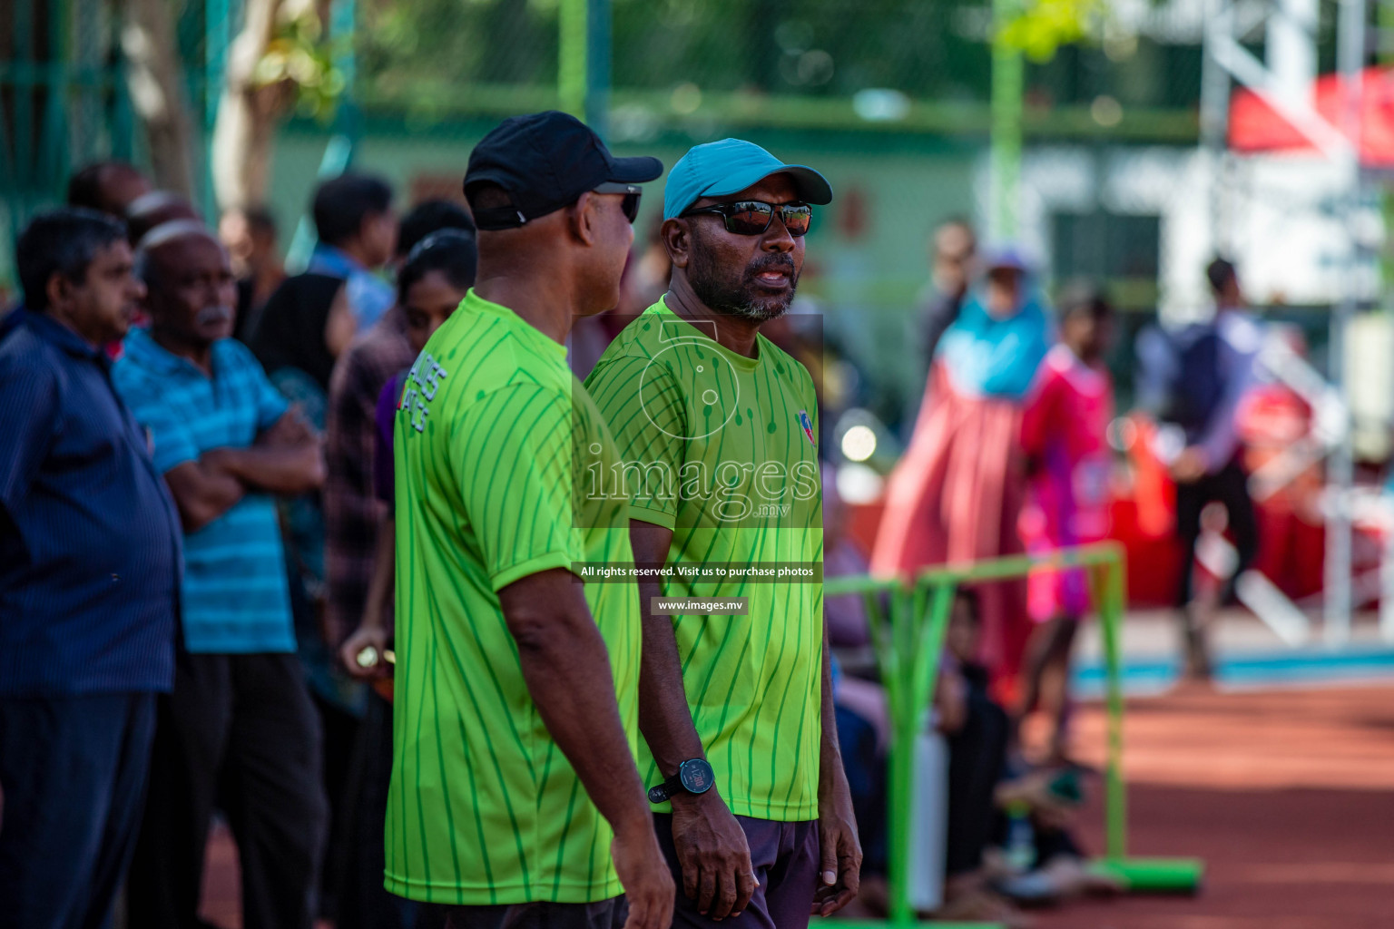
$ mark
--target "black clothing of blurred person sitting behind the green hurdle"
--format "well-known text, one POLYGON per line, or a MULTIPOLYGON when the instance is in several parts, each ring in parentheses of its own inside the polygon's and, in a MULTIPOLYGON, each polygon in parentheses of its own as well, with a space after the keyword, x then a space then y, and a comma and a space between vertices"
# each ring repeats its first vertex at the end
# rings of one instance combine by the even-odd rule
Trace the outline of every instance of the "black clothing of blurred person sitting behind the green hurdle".
POLYGON ((987 695, 983 684, 967 691, 967 719, 948 738, 949 808, 944 871, 963 875, 983 865, 983 850, 993 834, 993 795, 1006 762, 1006 713, 987 695))

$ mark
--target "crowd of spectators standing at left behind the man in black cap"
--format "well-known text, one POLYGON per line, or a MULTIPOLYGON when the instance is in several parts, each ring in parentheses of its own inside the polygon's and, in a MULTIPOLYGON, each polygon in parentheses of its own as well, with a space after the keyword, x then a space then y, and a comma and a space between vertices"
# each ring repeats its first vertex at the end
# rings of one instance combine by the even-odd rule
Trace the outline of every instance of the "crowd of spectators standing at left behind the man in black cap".
POLYGON ((414 925, 381 877, 390 709, 353 670, 390 623, 382 401, 473 283, 474 223, 446 201, 399 216, 365 174, 319 185, 311 213, 318 245, 287 274, 265 208, 215 230, 100 163, 18 241, 4 925, 107 925, 123 877, 127 925, 205 925, 216 815, 244 925, 414 925), (110 588, 79 582, 93 560, 110 588), (42 618, 59 600, 89 618, 60 635, 42 618))

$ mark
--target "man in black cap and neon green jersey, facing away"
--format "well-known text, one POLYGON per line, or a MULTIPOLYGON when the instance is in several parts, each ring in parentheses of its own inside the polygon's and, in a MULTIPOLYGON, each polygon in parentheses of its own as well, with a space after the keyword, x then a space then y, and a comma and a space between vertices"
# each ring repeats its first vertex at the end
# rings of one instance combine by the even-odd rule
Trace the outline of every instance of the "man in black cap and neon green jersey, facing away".
POLYGON ((573 493, 577 455, 615 450, 563 344, 618 302, 661 171, 562 113, 489 132, 464 177, 478 279, 399 404, 386 887, 457 929, 671 919, 634 766, 637 595, 572 572, 633 554, 623 501, 573 493))

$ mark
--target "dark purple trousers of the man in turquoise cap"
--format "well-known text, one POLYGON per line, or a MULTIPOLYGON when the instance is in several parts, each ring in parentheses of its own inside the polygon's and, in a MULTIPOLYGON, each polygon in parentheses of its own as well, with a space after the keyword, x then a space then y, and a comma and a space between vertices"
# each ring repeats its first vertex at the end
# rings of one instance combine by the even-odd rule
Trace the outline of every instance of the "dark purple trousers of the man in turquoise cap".
MULTIPOLYGON (((750 864, 760 884, 750 897, 750 905, 732 925, 740 929, 806 929, 821 866, 817 820, 779 823, 736 816, 736 822, 746 833, 750 864)), ((654 829, 673 883, 677 884, 675 929, 726 925, 728 921, 717 922, 697 912, 697 901, 683 893, 683 866, 673 847, 673 818, 669 813, 654 813, 654 829)))

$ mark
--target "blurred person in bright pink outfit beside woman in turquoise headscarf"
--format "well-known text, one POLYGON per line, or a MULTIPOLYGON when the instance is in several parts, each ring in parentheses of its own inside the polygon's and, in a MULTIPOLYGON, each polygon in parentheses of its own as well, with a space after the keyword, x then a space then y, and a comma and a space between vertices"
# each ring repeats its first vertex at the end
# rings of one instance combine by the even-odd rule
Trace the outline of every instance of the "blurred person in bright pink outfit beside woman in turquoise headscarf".
MULTIPOLYGON (((1022 535, 1030 552, 1047 554, 1108 536, 1114 387, 1103 359, 1111 338, 1112 306, 1103 294, 1087 287, 1066 291, 1059 344, 1046 354, 1022 423, 1022 451, 1032 472, 1022 535)), ((1059 762, 1068 747, 1069 656, 1089 613, 1089 582, 1083 568, 1036 571, 1027 595, 1036 628, 1026 646, 1016 716, 1040 702, 1051 715, 1050 759, 1059 762)))

